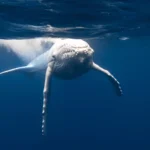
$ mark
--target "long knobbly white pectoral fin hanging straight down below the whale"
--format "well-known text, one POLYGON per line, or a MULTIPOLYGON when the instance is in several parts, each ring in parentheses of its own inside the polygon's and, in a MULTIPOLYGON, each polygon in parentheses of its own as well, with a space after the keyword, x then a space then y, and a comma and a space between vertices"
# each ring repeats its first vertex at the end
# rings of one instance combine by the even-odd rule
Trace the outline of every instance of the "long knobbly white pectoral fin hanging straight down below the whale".
POLYGON ((43 90, 43 108, 42 108, 42 135, 46 133, 46 122, 48 114, 48 99, 50 97, 51 88, 51 78, 52 78, 52 64, 48 64, 45 74, 45 83, 43 90))

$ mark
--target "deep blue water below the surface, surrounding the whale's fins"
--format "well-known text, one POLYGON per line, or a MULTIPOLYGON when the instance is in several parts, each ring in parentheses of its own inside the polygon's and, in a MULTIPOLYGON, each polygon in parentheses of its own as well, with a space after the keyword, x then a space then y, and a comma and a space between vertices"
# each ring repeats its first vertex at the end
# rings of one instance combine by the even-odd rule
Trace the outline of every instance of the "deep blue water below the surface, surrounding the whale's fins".
MULTIPOLYGON (((17 73, 1 76, 3 149, 150 148, 148 38, 93 40, 90 44, 95 49, 94 60, 121 82, 123 97, 117 97, 111 84, 94 71, 72 81, 54 79, 48 135, 42 137, 43 78, 17 73)), ((3 52, 5 55, 9 62, 1 57, 1 67, 18 65, 15 56, 3 52)))

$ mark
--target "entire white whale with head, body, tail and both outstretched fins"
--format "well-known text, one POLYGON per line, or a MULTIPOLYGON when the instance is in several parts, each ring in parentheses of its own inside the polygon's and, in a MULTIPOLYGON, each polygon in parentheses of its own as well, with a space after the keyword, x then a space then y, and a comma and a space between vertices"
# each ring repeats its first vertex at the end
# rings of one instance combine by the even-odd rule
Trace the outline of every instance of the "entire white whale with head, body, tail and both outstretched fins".
POLYGON ((122 90, 117 79, 107 70, 93 62, 94 50, 90 45, 80 39, 64 39, 56 42, 50 50, 33 59, 23 67, 10 69, 1 74, 9 72, 38 72, 45 71, 45 83, 43 90, 42 110, 42 133, 46 131, 47 103, 51 89, 51 78, 56 76, 69 80, 83 75, 91 69, 102 72, 111 81, 118 95, 122 90))

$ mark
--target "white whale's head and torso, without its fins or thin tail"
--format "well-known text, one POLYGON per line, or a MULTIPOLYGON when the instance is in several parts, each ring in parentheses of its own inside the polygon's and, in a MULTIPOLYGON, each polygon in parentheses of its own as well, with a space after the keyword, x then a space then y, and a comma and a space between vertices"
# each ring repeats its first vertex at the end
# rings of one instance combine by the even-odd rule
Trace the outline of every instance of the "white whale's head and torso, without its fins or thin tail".
POLYGON ((27 71, 44 70, 48 63, 55 61, 53 75, 61 79, 73 79, 89 71, 93 52, 90 46, 82 40, 62 40, 31 61, 27 65, 27 68, 31 69, 27 71))

